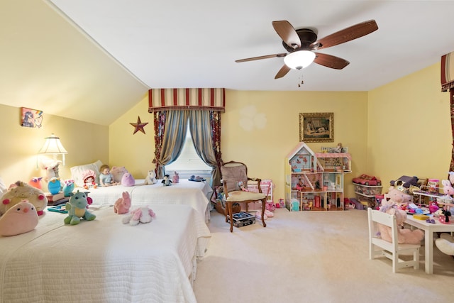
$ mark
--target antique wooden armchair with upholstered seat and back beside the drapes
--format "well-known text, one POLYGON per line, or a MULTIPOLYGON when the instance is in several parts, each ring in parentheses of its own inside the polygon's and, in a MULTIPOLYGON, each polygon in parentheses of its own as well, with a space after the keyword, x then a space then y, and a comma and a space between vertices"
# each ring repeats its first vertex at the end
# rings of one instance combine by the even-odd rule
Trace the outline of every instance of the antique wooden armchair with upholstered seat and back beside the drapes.
POLYGON ((262 224, 265 223, 265 204, 267 202, 265 194, 260 188, 260 179, 252 179, 248 177, 248 167, 242 162, 230 161, 221 166, 221 174, 223 180, 223 189, 226 202, 226 222, 227 216, 230 216, 230 231, 233 232, 232 206, 233 203, 244 202, 246 211, 248 211, 248 203, 262 201, 262 224), (245 192, 239 188, 240 182, 243 182, 243 187, 248 188, 248 180, 257 181, 259 192, 245 192))

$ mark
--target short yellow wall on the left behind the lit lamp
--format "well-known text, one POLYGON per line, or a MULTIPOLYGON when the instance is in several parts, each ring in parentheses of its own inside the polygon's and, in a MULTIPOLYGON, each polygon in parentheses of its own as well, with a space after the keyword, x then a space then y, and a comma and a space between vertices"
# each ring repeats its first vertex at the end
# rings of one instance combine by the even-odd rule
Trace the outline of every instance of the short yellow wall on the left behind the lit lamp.
MULTIPOLYGON (((37 170, 38 150, 44 138, 55 133, 68 151, 66 165, 60 165, 62 180, 70 179, 70 167, 74 165, 107 161, 109 159, 109 128, 92 123, 52 116, 44 113, 43 128, 22 127, 21 109, 0 104, 1 147, 0 176, 9 185, 17 180, 28 182, 31 177, 45 176, 37 170)), ((59 158, 61 160, 61 156, 59 158)))

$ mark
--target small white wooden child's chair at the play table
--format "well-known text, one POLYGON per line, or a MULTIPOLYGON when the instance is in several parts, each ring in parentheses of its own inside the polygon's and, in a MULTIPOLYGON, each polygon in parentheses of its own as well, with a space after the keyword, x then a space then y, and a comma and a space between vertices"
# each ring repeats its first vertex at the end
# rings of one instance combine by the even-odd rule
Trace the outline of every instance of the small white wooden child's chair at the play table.
POLYGON ((378 256, 384 256, 392 260, 392 272, 397 272, 399 268, 408 268, 413 266, 415 270, 419 269, 419 244, 399 244, 397 243, 397 222, 394 215, 386 214, 382 211, 368 208, 367 218, 369 219, 369 258, 375 259, 378 256), (392 243, 384 241, 377 236, 377 224, 389 226, 392 230, 392 243), (378 249, 377 249, 378 248, 378 249), (413 254, 412 260, 402 260, 399 255, 413 254))

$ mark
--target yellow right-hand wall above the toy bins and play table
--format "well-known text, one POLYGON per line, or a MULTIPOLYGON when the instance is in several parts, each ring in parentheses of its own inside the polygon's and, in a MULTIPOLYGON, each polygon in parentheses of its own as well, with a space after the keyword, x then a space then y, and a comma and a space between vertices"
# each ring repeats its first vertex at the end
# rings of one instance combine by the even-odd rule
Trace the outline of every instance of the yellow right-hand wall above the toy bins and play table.
POLYGON ((384 184, 402 175, 446 179, 453 138, 440 64, 374 89, 368 99, 365 172, 384 184))

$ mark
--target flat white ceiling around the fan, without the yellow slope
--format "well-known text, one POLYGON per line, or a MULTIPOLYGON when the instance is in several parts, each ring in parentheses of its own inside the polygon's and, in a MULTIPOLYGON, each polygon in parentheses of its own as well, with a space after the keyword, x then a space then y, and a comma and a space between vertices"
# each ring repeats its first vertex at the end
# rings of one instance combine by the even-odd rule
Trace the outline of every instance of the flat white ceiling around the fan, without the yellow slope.
POLYGON ((150 88, 368 91, 454 50, 454 1, 50 1, 150 88), (272 21, 323 38, 370 19, 378 31, 319 50, 350 61, 343 70, 312 64, 274 79, 282 57, 234 62, 285 53, 272 21))

